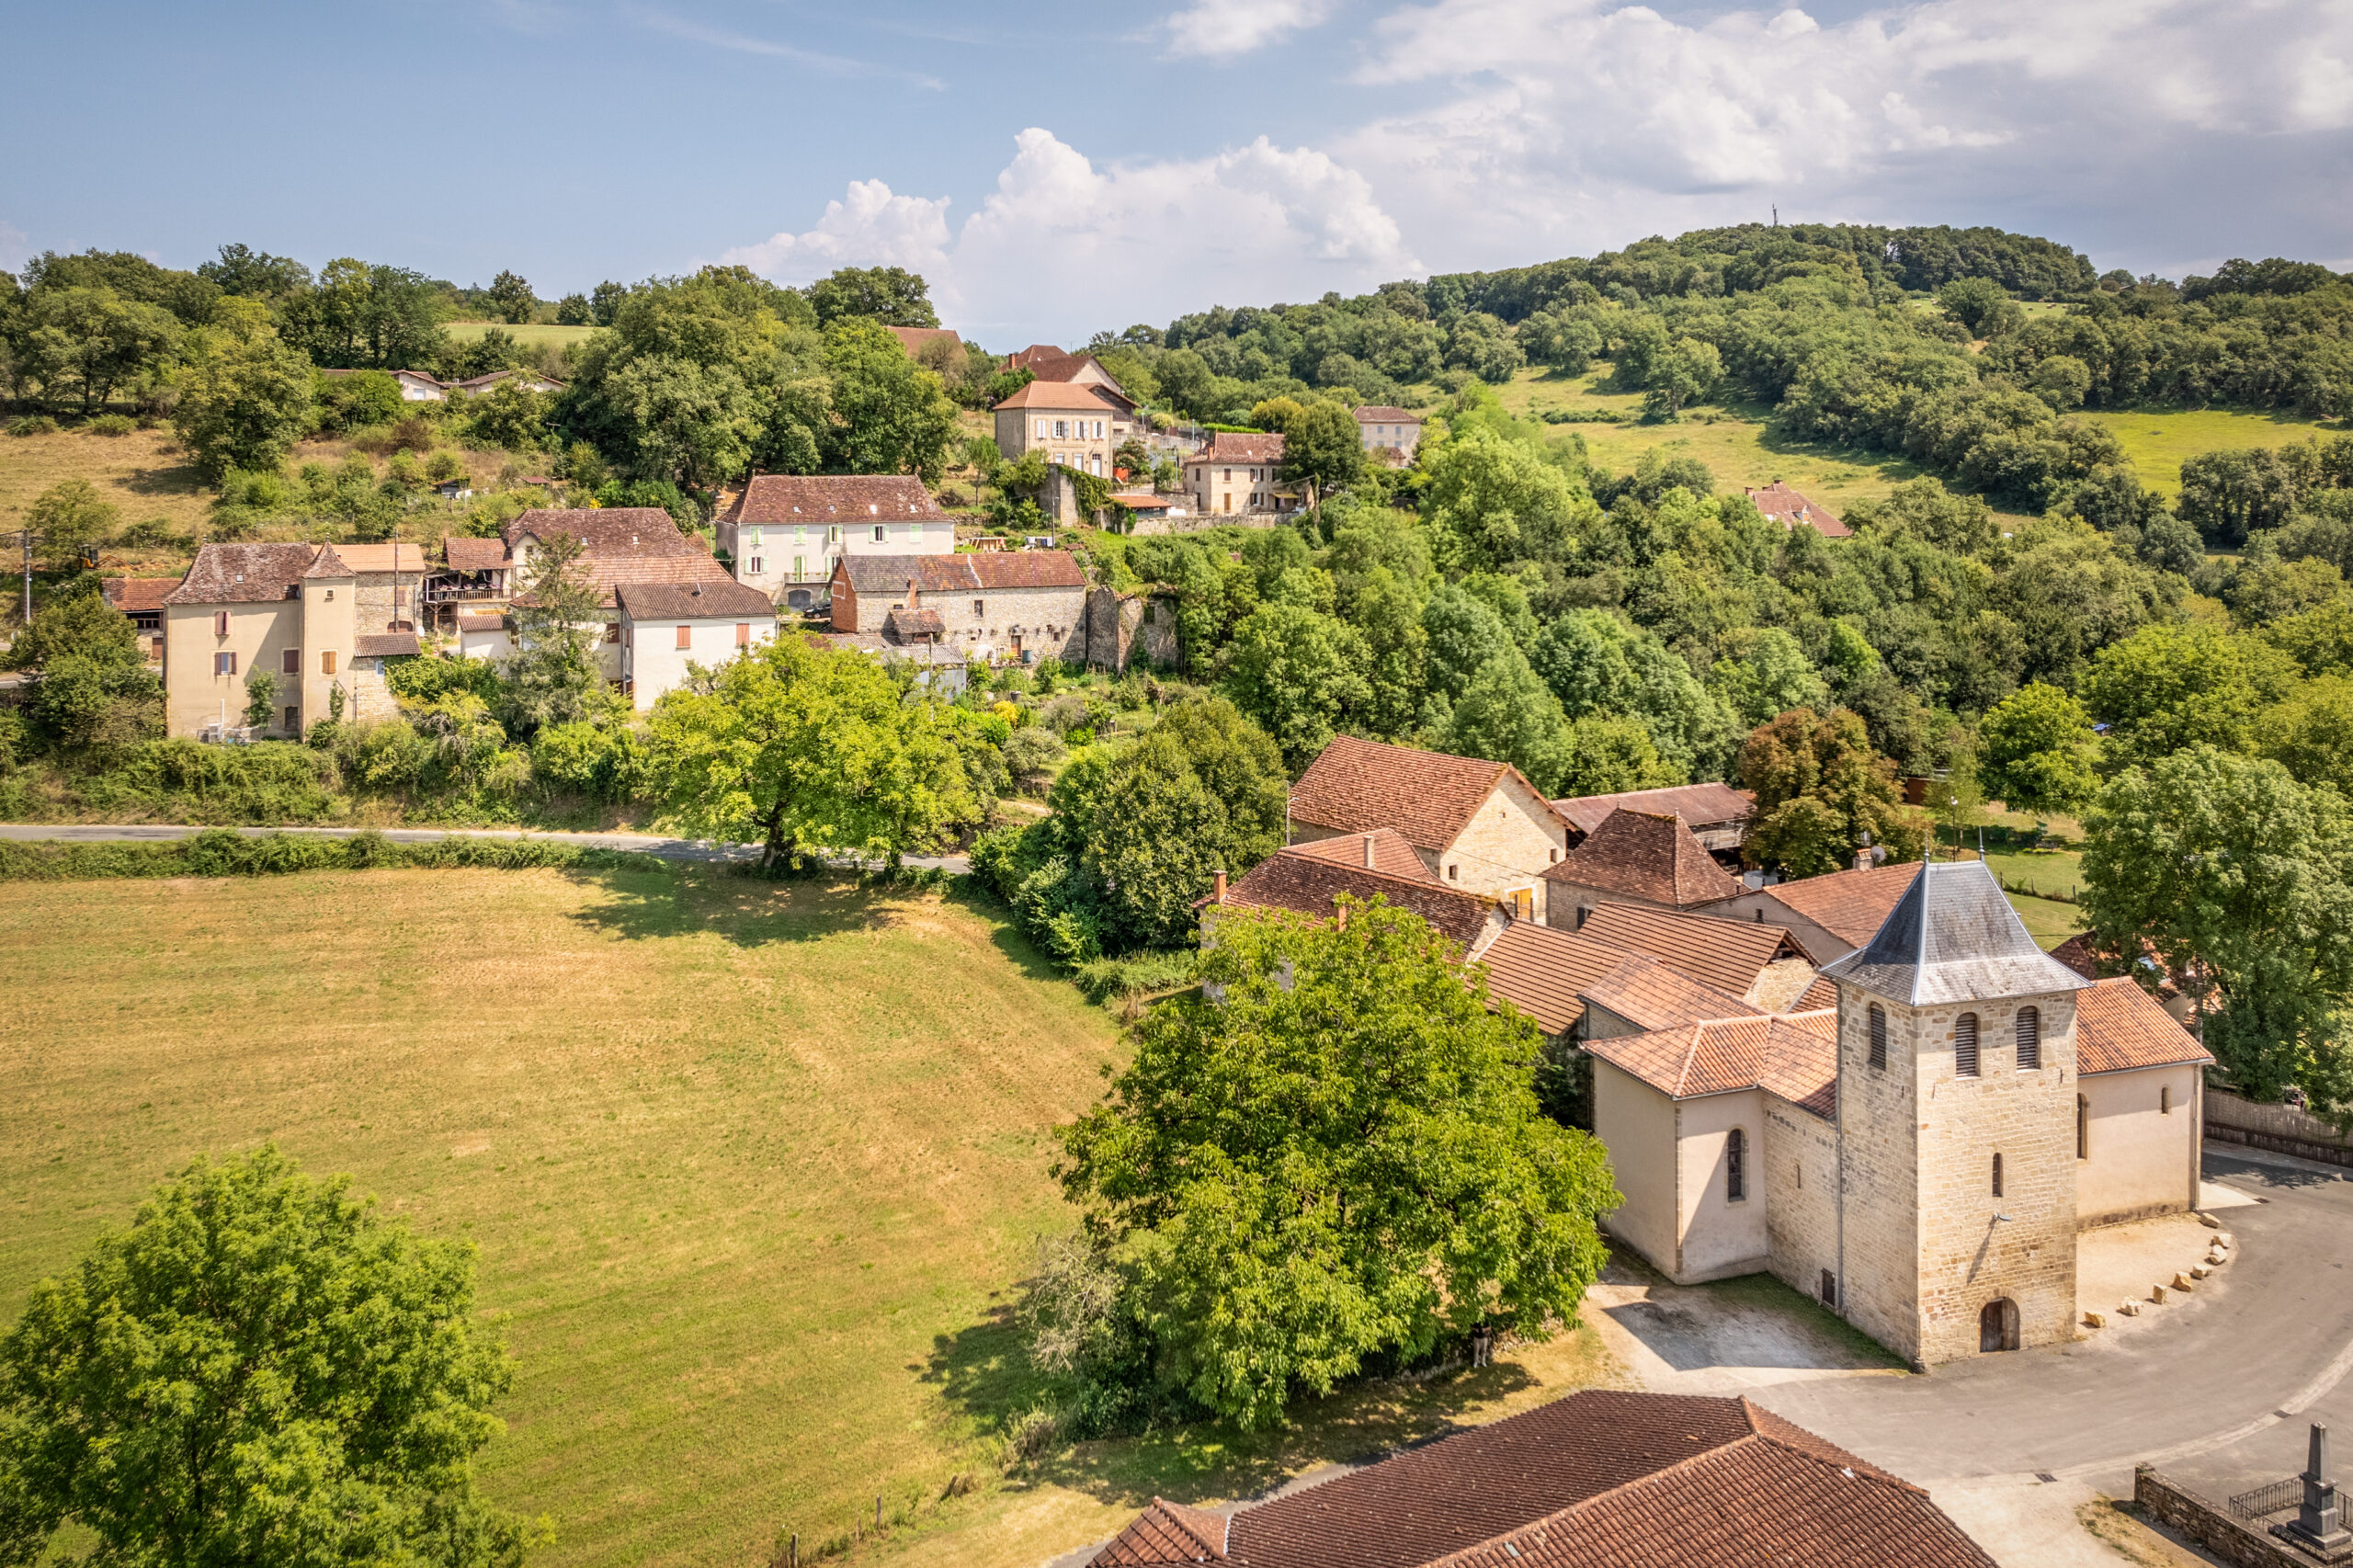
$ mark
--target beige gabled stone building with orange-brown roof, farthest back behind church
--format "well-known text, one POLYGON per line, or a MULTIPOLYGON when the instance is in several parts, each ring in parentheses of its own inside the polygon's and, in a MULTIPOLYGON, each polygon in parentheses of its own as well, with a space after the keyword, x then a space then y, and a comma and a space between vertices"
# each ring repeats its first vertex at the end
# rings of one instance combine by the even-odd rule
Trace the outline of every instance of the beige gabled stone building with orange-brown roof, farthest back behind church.
POLYGON ((1433 878, 1544 916, 1569 824, 1511 763, 1337 735, 1292 786, 1289 843, 1395 829, 1433 878))

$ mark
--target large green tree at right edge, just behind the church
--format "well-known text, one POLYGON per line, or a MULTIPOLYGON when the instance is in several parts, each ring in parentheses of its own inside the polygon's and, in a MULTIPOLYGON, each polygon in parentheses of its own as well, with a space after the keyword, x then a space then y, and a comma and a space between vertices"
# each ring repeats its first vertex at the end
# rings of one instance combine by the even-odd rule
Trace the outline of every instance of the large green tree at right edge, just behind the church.
POLYGON ((2099 951, 2188 984, 2238 1092, 2353 1102, 2353 815, 2334 789, 2214 746, 2132 768, 2085 817, 2082 913, 2099 951))

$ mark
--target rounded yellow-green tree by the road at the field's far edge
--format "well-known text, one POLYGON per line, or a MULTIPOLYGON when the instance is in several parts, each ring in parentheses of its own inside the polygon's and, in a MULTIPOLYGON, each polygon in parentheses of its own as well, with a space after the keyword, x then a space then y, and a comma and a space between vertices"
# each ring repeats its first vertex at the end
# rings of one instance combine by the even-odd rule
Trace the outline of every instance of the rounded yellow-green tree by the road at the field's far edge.
POLYGON ((896 859, 972 805, 939 713, 866 655, 802 636, 666 692, 652 765, 668 822, 753 841, 767 871, 828 850, 896 859))

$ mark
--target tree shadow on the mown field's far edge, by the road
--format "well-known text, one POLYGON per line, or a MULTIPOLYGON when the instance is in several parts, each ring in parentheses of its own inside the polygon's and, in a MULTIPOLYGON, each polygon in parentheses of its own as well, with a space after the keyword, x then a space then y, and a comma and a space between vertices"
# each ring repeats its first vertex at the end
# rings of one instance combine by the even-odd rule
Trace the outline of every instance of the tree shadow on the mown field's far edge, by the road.
POLYGON ((572 918, 631 939, 713 932, 736 946, 819 942, 885 930, 908 895, 859 888, 849 878, 762 881, 725 866, 675 871, 581 871, 609 897, 572 918))

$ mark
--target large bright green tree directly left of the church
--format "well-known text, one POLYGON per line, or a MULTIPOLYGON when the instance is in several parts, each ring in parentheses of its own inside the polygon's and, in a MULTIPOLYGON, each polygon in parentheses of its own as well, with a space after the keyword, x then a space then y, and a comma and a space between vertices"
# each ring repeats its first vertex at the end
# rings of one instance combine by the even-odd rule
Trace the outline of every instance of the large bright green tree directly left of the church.
POLYGON ((1539 1111, 1537 1026, 1445 937, 1381 902, 1346 930, 1226 913, 1202 977, 1061 1135, 1162 1394, 1268 1427, 1372 1358, 1574 1321, 1607 1156, 1539 1111))

